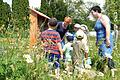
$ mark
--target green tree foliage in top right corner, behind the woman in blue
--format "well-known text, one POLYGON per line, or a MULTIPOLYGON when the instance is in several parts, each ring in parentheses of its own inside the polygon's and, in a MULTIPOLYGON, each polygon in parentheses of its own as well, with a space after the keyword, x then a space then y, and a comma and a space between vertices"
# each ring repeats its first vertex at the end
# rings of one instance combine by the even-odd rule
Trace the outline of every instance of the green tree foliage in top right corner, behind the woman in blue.
POLYGON ((111 21, 117 25, 120 25, 120 0, 106 0, 105 10, 111 21))

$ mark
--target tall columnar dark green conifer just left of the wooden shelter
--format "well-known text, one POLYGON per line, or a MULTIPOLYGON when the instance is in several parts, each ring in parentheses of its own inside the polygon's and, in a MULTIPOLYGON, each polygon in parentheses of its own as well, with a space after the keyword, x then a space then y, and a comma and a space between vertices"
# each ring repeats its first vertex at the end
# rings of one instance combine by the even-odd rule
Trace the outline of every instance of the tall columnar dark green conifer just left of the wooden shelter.
POLYGON ((15 29, 25 30, 29 27, 28 0, 12 0, 12 18, 15 29))

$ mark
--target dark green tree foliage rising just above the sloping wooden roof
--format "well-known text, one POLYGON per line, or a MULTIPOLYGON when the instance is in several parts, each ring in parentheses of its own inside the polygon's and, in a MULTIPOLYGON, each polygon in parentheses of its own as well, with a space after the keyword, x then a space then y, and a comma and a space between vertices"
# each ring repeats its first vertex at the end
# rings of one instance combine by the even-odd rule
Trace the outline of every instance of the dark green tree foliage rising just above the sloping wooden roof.
POLYGON ((67 7, 63 0, 41 0, 41 8, 37 10, 49 17, 63 20, 67 16, 67 7))

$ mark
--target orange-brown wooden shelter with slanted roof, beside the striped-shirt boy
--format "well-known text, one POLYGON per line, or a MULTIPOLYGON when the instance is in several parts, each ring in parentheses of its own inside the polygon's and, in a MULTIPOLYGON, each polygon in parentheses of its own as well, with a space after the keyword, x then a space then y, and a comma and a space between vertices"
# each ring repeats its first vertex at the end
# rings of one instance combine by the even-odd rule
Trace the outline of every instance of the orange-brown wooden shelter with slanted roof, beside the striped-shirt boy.
POLYGON ((30 47, 32 48, 41 33, 47 28, 47 22, 50 18, 45 14, 30 8, 30 47))

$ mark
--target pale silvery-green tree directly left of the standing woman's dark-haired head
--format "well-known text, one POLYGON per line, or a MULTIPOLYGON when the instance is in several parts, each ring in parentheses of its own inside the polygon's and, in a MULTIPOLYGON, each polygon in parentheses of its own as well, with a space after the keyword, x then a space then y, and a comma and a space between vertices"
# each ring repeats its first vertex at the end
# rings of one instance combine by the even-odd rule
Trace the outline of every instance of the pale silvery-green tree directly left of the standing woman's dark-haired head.
POLYGON ((90 1, 87 3, 84 3, 83 0, 75 0, 75 1, 66 0, 66 3, 69 6, 68 12, 73 19, 73 24, 75 23, 85 24, 91 30, 94 26, 94 22, 88 20, 87 17, 89 15, 90 8, 98 4, 90 1))

